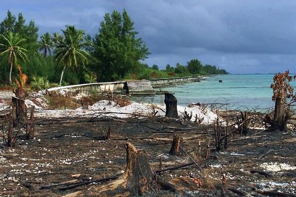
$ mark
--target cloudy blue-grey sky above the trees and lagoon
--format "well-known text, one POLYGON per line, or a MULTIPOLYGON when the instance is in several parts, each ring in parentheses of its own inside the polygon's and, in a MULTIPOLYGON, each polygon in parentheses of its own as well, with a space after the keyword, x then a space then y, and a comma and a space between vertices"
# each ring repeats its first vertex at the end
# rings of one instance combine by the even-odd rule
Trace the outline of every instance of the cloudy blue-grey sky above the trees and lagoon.
POLYGON ((105 13, 124 8, 150 66, 198 59, 230 73, 296 73, 295 0, 0 0, 0 21, 9 9, 39 34, 75 25, 95 35, 105 13))

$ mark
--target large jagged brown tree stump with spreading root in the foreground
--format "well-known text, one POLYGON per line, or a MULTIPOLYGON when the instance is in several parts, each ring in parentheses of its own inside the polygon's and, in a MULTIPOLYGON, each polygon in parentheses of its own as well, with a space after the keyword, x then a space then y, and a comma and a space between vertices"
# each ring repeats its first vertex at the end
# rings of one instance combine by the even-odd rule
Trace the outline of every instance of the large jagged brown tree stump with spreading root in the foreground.
POLYGON ((126 144, 126 168, 122 176, 108 185, 91 187, 80 197, 129 197, 143 195, 148 190, 157 191, 154 173, 150 169, 145 150, 137 150, 131 143, 126 144))

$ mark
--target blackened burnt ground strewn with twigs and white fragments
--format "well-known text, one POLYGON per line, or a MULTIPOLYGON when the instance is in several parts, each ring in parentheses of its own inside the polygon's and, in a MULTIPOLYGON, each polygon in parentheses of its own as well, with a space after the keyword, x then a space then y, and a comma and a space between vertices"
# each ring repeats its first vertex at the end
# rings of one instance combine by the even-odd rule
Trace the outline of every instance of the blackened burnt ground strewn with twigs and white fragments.
POLYGON ((221 196, 222 188, 226 188, 225 196, 238 196, 233 189, 253 196, 266 196, 259 191, 296 194, 295 132, 251 131, 247 137, 234 134, 229 148, 217 153, 214 137, 205 134, 212 132, 210 127, 182 129, 195 127, 194 123, 165 119, 43 122, 36 125, 35 139, 19 139, 14 148, 0 144, 1 197, 60 197, 94 187, 98 183, 68 190, 61 190, 68 186, 66 184, 42 189, 42 186, 53 183, 98 180, 122 173, 126 164, 124 144, 127 142, 138 149, 146 149, 152 170, 192 163, 188 155, 199 165, 162 172, 160 176, 175 184, 177 191, 151 192, 146 196, 217 197, 221 196), (109 127, 111 139, 100 140, 101 133, 106 133, 109 127), (171 142, 155 139, 172 138, 170 132, 173 131, 181 132, 184 138, 197 136, 197 139, 184 141, 183 156, 168 155, 171 142), (151 137, 145 139, 147 136, 151 137), (200 153, 198 141, 201 143, 200 153), (204 159, 208 143, 211 157, 204 159), (279 168, 278 171, 264 169, 271 164, 279 168), (251 173, 252 170, 260 173, 251 173), (221 186, 223 175, 225 183, 221 186))

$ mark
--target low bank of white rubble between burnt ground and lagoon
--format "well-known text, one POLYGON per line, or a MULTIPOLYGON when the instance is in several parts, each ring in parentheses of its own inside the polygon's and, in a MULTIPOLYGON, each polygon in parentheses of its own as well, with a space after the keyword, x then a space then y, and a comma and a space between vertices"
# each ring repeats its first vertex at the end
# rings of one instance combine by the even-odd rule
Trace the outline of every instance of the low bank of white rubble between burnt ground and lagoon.
MULTIPOLYGON (((185 111, 187 114, 191 114, 191 121, 195 121, 195 117, 203 119, 202 124, 211 124, 217 119, 217 114, 210 110, 202 110, 199 106, 192 107, 177 107, 178 114, 183 117, 185 111)), ((92 106, 88 106, 87 109, 79 107, 75 110, 37 110, 36 117, 93 117, 94 114, 97 117, 115 117, 115 118, 132 118, 132 117, 154 117, 154 116, 165 116, 164 105, 150 105, 133 102, 130 105, 120 107, 113 101, 100 100, 92 106), (97 114, 96 114, 97 113, 97 114)))

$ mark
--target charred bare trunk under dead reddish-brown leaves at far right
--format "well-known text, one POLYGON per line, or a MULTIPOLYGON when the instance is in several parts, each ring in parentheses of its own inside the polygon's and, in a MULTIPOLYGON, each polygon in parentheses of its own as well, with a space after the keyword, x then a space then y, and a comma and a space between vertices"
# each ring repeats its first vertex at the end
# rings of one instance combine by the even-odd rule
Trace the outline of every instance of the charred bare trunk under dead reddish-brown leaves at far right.
POLYGON ((275 100, 273 127, 276 130, 284 131, 286 129, 286 110, 282 99, 275 100))

